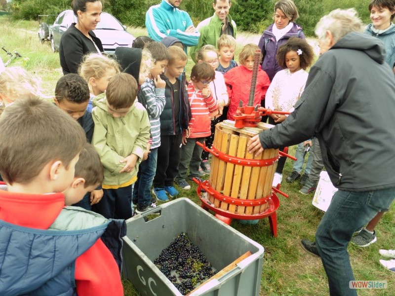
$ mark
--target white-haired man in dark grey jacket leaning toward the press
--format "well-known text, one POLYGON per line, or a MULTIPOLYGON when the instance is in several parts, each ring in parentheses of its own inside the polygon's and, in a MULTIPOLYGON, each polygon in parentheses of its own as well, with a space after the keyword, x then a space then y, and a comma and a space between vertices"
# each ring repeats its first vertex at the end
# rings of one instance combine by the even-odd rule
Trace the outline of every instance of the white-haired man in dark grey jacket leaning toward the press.
MULTIPOLYGON (((362 34, 354 9, 336 9, 316 26, 321 53, 305 91, 282 124, 260 133, 248 150, 260 153, 316 136, 325 168, 339 188, 323 216, 316 243, 302 241, 321 257, 331 295, 356 295, 347 245, 357 229, 395 197, 393 173, 395 80, 377 39, 362 34)), ((303 53, 302 53, 303 54, 303 53)))

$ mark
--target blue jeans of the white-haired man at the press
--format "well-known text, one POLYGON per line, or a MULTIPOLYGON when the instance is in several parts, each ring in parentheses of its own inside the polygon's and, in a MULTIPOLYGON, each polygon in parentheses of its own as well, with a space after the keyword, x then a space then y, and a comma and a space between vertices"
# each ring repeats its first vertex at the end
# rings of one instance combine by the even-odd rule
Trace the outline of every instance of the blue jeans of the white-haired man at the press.
POLYGON ((356 290, 349 288, 355 278, 347 245, 356 230, 390 208, 394 197, 395 187, 363 192, 339 190, 333 196, 316 231, 316 247, 328 276, 330 295, 356 296, 356 290))

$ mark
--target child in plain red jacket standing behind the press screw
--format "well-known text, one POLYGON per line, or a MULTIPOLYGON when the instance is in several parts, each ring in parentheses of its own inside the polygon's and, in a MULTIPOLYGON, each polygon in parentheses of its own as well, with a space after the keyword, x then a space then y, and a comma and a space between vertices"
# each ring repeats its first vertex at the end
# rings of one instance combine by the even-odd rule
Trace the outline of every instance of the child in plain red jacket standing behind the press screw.
MULTIPOLYGON (((240 66, 233 68, 229 72, 224 74, 225 83, 228 87, 228 119, 230 120, 235 120, 233 116, 236 114, 236 110, 239 106, 240 100, 243 102, 243 106, 247 105, 248 103, 252 79, 252 68, 254 66, 254 54, 256 49, 259 48, 255 44, 245 45, 240 51, 238 58, 240 66)), ((259 66, 258 78, 256 81, 254 106, 257 104, 261 104, 262 107, 265 107, 264 100, 269 85, 270 80, 268 75, 265 71, 261 69, 261 66, 259 66)))

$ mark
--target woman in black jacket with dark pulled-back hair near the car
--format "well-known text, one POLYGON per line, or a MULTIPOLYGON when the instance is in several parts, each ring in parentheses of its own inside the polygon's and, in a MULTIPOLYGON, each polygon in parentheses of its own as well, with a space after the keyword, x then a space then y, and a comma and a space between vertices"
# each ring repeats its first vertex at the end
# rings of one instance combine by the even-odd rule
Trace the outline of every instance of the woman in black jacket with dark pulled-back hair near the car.
POLYGON ((82 57, 90 52, 104 51, 102 42, 92 30, 100 22, 103 4, 100 0, 73 0, 72 7, 77 16, 60 38, 59 58, 63 74, 78 72, 82 57))

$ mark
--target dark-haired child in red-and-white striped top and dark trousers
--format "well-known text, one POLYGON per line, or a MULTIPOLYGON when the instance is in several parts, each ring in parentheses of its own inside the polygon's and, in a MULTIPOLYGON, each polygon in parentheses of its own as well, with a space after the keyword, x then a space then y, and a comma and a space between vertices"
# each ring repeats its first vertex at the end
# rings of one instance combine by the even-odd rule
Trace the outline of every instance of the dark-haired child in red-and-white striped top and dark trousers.
POLYGON ((210 113, 218 111, 217 101, 213 98, 208 84, 215 78, 214 69, 206 62, 197 63, 191 72, 191 81, 188 84, 188 98, 191 106, 192 118, 189 121, 189 135, 183 135, 184 146, 181 151, 181 160, 178 165, 176 183, 185 190, 191 186, 185 181, 189 166, 189 180, 199 179, 199 165, 202 148, 196 143, 203 143, 205 137, 211 135, 210 113))

